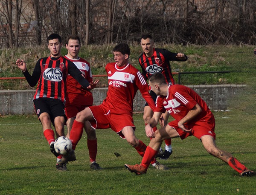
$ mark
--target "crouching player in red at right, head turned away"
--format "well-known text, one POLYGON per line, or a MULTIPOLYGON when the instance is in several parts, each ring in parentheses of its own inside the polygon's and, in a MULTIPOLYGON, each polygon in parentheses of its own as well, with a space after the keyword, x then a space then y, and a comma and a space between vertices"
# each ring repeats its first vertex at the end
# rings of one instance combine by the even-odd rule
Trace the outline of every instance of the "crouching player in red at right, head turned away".
POLYGON ((157 94, 156 108, 153 117, 145 126, 145 131, 151 139, 141 164, 125 167, 137 175, 147 172, 151 160, 166 138, 188 136, 198 138, 207 152, 239 172, 241 176, 254 176, 255 172, 247 169, 230 153, 218 149, 215 144, 215 119, 206 102, 192 89, 183 85, 168 85, 162 73, 155 73, 149 78, 151 90, 157 94), (160 130, 153 131, 161 113, 167 110, 175 119, 160 130))

